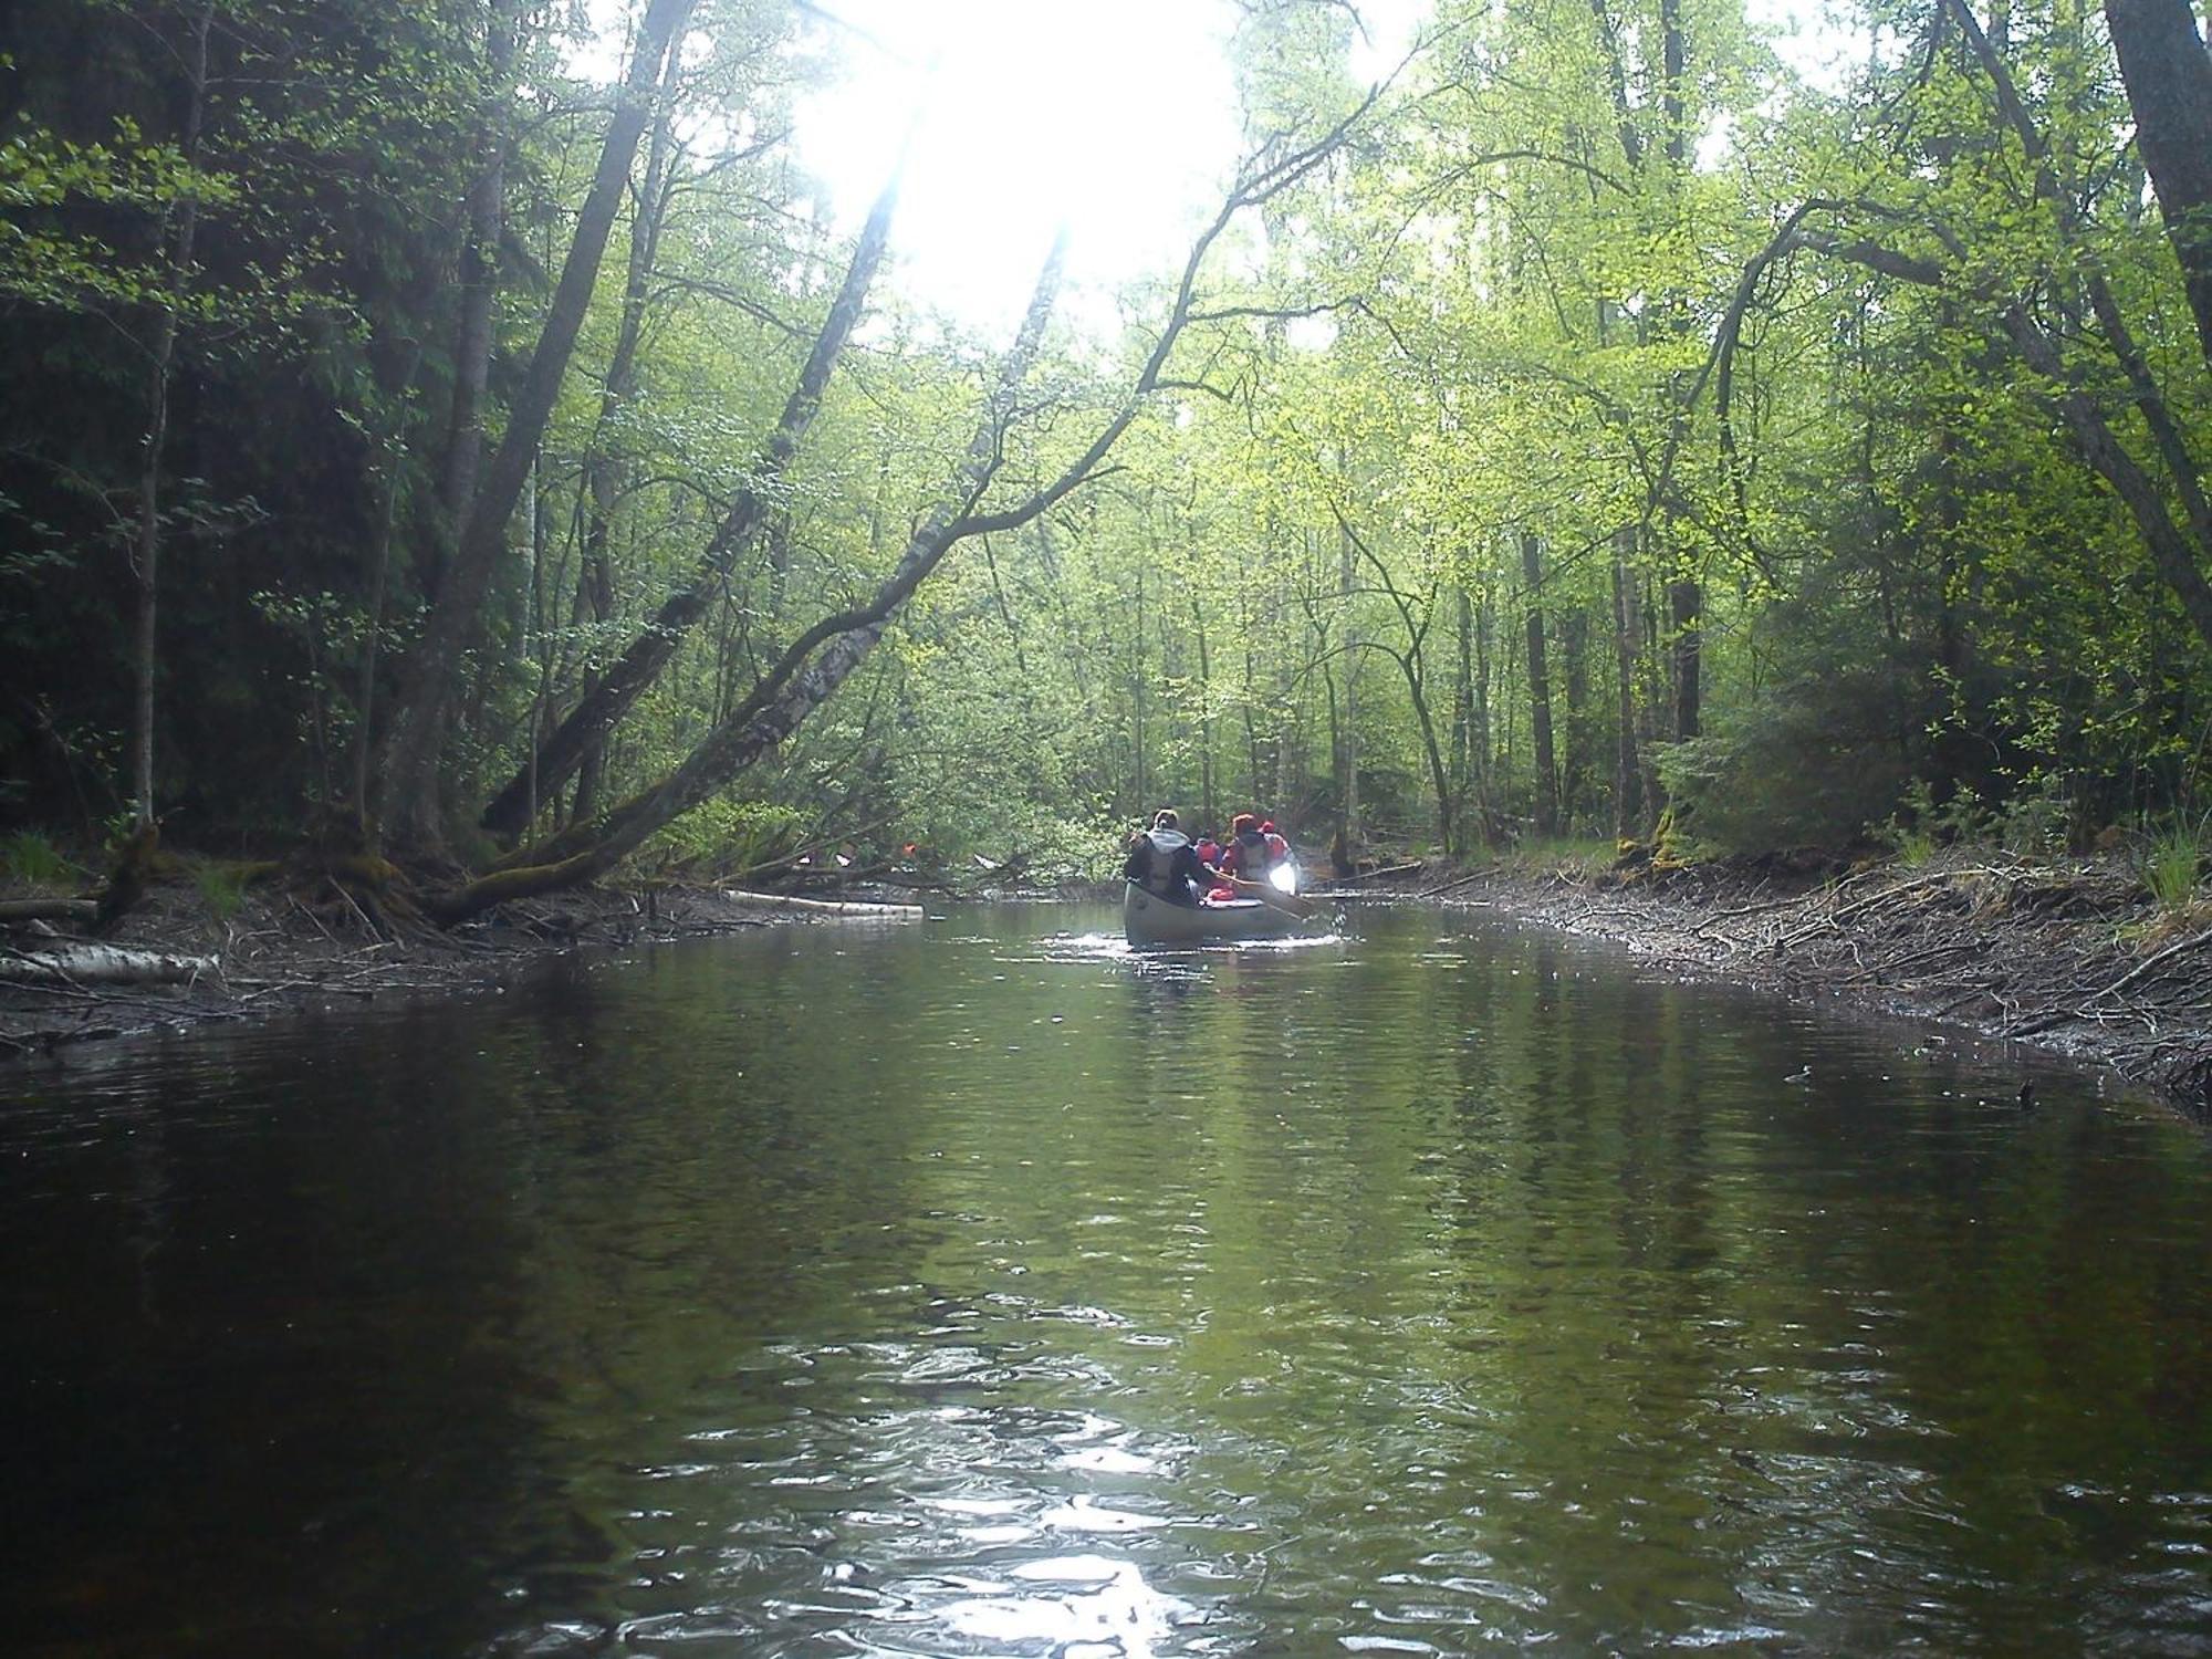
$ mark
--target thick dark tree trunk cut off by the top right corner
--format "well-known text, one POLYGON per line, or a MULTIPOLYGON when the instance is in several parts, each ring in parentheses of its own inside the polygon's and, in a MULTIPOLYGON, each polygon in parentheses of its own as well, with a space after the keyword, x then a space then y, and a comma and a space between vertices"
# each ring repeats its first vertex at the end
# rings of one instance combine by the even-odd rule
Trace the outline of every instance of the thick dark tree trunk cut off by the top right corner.
POLYGON ((2135 144, 2159 195, 2166 234, 2212 363, 2212 55, 2190 0, 2106 0, 2135 144))

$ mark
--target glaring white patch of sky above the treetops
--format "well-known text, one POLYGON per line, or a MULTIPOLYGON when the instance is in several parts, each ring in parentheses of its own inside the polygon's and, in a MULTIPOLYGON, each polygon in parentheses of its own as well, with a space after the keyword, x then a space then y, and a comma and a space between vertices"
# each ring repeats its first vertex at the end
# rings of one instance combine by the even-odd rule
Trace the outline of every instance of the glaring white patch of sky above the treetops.
MULTIPOLYGON (((1179 268, 1237 166, 1225 0, 821 9, 849 24, 836 31, 847 75, 799 108, 801 166, 827 184, 841 228, 856 230, 918 122, 891 248, 900 288, 960 323, 1013 327, 1060 219, 1073 237, 1071 288, 1088 290, 1082 312, 1135 276, 1179 268)), ((1402 40, 1429 4, 1360 9, 1402 40)), ((1365 62, 1356 71, 1376 73, 1365 62)))

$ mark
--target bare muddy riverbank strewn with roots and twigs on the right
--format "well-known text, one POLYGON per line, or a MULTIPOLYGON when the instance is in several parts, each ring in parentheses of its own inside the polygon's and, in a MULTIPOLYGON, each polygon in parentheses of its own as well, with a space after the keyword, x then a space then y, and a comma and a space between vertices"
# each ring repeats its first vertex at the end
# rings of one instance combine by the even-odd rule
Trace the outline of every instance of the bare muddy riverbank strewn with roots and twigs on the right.
POLYGON ((1418 865, 1325 891, 1493 909, 1683 975, 2031 1044, 2212 1119, 2212 902, 2161 907, 2124 858, 1418 865))

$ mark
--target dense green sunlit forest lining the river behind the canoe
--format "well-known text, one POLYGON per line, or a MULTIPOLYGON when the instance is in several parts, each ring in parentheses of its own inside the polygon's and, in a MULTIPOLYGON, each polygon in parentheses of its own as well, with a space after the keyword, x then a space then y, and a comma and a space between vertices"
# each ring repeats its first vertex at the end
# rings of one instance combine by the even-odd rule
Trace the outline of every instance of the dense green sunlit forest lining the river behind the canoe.
POLYGON ((2203 830, 2188 0, 1871 0, 1825 73, 1741 0, 1438 0, 1374 84, 1352 7, 1234 0, 1188 259, 1102 330, 1040 246, 1004 336, 902 292, 896 175, 858 228, 807 175, 834 13, 9 7, 0 830, 447 920, 1095 872, 1161 801, 2203 830))

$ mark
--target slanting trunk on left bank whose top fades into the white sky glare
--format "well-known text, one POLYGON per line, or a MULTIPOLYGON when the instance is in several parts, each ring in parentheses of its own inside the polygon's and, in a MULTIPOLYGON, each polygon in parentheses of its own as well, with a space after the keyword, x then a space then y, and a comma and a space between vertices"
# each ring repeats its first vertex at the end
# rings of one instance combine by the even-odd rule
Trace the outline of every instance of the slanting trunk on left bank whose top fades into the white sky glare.
MULTIPOLYGON (((568 710, 568 717, 553 734, 538 745, 535 772, 540 790, 553 790, 575 774, 584 757, 606 741, 615 723, 659 679, 661 670, 677 655, 677 646, 684 644, 684 635, 697 626, 712 606, 714 595, 721 593, 721 582, 737 562, 737 555, 768 520, 774 509, 776 487, 783 473, 790 471, 792 458, 799 453, 799 442, 821 409, 823 389, 830 385, 838 354, 843 354, 845 341, 852 338, 852 330, 860 321, 869 283, 876 279, 876 268, 883 263, 883 252, 891 237, 891 210, 896 204, 898 179, 876 197, 876 206, 854 248, 852 263, 845 268, 838 296, 830 305, 830 316, 823 319, 821 334, 814 336, 814 349, 807 352, 805 367, 799 372, 799 385, 792 387, 776 429, 761 445, 752 482, 739 489, 737 500, 730 502, 730 511, 723 513, 721 526, 708 542, 706 553, 699 555, 690 577, 661 602, 653 622, 628 644, 622 659, 568 710)), ((507 787, 493 796, 491 805, 484 807, 482 821, 487 830, 518 834, 529 825, 529 772, 531 763, 524 763, 509 779, 507 787)))

